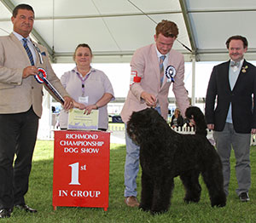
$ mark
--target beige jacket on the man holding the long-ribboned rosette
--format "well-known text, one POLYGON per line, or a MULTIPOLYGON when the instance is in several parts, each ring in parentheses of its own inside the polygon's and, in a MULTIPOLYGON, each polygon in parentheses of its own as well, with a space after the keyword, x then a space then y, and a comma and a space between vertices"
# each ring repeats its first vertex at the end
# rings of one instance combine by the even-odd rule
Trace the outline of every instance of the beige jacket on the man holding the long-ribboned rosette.
MULTIPOLYGON (((47 71, 47 79, 62 97, 68 96, 49 63, 47 50, 39 44, 36 45, 41 51, 44 62, 40 64, 36 50, 35 66, 47 71)), ((26 66, 31 64, 20 40, 13 33, 0 37, 0 114, 20 113, 29 110, 32 106, 33 111, 41 117, 43 84, 38 83, 32 76, 22 78, 26 66)))

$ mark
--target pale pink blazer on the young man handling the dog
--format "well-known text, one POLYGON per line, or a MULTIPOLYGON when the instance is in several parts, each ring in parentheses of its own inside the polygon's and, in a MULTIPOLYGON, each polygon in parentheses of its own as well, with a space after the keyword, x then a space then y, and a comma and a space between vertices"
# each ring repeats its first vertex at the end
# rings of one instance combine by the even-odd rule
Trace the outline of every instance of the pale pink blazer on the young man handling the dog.
MULTIPOLYGON (((155 44, 150 44, 141 49, 137 49, 131 59, 131 78, 136 76, 140 82, 133 83, 125 100, 125 105, 121 111, 121 117, 125 123, 128 122, 133 111, 140 111, 147 107, 145 101, 141 99, 141 94, 146 91, 154 94, 158 100, 161 109, 161 115, 165 119, 168 114, 168 93, 172 85, 173 93, 177 100, 177 106, 182 114, 189 106, 188 92, 184 87, 184 58, 183 54, 172 49, 169 53, 167 66, 173 66, 176 70, 174 83, 170 78, 164 79, 160 87, 160 68, 156 53, 155 44)), ((166 75, 166 74, 165 74, 166 75)))

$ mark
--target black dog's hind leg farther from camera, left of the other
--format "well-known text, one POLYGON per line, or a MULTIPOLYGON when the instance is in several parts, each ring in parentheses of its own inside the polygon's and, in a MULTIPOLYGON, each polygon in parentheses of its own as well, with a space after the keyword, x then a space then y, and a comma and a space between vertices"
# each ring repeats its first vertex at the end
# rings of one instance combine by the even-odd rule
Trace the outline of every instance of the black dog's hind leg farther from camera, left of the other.
POLYGON ((180 174, 180 179, 183 181, 183 186, 185 187, 185 197, 183 198, 184 202, 198 203, 201 196, 201 185, 198 181, 200 172, 197 170, 191 170, 180 174))

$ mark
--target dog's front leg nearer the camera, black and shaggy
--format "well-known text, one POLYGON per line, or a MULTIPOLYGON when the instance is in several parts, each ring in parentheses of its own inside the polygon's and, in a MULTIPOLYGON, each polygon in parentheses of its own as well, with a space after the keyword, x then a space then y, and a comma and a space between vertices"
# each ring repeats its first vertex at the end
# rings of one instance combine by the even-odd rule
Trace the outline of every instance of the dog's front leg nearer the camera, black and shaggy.
POLYGON ((173 188, 174 180, 170 175, 164 175, 161 178, 154 179, 154 196, 150 210, 151 214, 165 213, 169 209, 173 188))

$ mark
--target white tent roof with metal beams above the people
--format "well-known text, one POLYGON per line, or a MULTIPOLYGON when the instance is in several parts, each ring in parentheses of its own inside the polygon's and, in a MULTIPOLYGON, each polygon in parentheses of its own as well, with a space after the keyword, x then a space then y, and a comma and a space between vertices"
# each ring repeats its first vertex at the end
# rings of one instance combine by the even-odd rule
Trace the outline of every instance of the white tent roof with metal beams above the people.
MULTIPOLYGON (((20 0, 0 0, 0 36, 12 31, 11 11, 20 0)), ((129 62, 133 52, 154 42, 160 20, 177 23, 174 44, 185 60, 226 60, 225 41, 247 37, 247 60, 255 60, 256 37, 250 26, 256 17, 252 0, 26 0, 36 20, 32 36, 49 50, 53 61, 73 62, 79 43, 88 43, 94 62, 129 62)))

